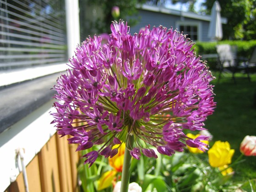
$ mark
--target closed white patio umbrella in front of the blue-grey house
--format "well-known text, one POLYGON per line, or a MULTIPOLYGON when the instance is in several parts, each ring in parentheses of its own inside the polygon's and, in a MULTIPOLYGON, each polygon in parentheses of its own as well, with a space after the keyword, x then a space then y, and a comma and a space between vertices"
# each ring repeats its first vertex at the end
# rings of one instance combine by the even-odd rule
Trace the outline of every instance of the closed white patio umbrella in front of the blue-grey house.
POLYGON ((208 37, 212 41, 219 41, 223 37, 220 10, 219 1, 216 0, 211 10, 211 21, 208 31, 208 37))

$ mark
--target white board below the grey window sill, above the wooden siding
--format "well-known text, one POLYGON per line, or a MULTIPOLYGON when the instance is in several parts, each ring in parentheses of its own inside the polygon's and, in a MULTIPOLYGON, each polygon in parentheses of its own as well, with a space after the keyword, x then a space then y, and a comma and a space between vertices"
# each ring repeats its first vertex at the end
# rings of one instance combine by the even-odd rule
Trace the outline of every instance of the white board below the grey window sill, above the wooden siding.
POLYGON ((53 100, 30 113, 21 121, 12 125, 0 134, 0 192, 3 192, 22 171, 17 159, 16 150, 24 149, 24 163, 28 163, 56 133, 50 124, 53 117, 53 100))

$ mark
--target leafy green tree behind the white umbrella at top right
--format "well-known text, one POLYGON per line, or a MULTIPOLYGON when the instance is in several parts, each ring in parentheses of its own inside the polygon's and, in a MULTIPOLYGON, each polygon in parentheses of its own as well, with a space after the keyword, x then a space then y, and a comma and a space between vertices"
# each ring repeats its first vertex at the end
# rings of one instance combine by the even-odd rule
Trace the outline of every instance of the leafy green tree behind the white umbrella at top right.
MULTIPOLYGON (((210 14, 215 0, 206 0, 210 14)), ((223 25, 223 39, 256 39, 256 0, 219 0, 221 16, 228 19, 223 25)))

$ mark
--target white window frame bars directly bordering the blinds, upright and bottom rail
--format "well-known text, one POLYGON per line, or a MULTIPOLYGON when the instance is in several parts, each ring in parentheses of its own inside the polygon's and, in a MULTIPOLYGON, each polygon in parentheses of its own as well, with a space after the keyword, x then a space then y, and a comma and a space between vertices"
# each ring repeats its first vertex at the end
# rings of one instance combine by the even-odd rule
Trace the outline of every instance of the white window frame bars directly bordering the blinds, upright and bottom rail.
MULTIPOLYGON (((68 57, 74 54, 74 50, 80 44, 80 22, 78 0, 65 0, 66 25, 67 25, 67 47, 68 57), (77 14, 74 14, 77 13, 77 14)), ((68 61, 67 61, 68 63, 68 61)), ((45 75, 51 75, 65 71, 68 68, 63 64, 45 64, 38 66, 28 66, 20 69, 9 69, 0 71, 0 86, 7 86, 26 80, 32 80, 45 75)))

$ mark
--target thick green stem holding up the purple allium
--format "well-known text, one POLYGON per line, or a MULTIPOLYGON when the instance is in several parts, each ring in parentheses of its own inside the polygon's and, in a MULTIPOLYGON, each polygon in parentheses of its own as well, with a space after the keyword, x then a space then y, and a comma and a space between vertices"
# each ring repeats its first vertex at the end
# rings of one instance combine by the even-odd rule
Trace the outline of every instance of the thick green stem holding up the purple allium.
POLYGON ((133 136, 128 135, 126 147, 124 151, 124 159, 123 159, 123 171, 122 171, 122 179, 121 179, 121 190, 120 192, 128 192, 129 180, 130 180, 130 170, 131 170, 131 159, 130 151, 128 148, 133 146, 133 136))

